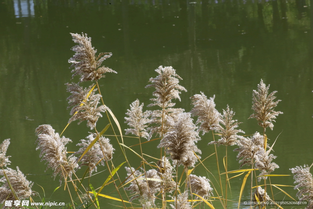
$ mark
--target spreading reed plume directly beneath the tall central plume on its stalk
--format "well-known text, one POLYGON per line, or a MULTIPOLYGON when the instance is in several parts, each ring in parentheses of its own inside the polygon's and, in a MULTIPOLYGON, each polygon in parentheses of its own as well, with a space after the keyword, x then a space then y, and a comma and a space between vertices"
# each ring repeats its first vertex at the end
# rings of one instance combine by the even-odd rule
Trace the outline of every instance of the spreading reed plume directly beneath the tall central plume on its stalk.
POLYGON ((156 126, 148 127, 147 130, 149 131, 149 138, 151 139, 154 133, 157 133, 160 138, 165 135, 168 130, 171 128, 170 124, 167 122, 168 118, 175 118, 179 113, 184 112, 182 108, 172 108, 167 107, 164 110, 164 114, 162 110, 154 110, 147 112, 148 117, 150 118, 149 124, 156 124, 156 126), (162 119, 163 118, 163 119, 162 119))

